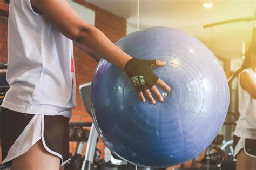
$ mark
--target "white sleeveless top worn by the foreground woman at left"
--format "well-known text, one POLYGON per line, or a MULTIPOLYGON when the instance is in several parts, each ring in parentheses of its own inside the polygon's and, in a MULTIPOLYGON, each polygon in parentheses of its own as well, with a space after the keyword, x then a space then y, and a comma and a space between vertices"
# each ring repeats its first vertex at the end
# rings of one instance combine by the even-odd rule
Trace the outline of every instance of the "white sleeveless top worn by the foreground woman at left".
POLYGON ((12 0, 8 21, 10 89, 2 107, 21 113, 71 117, 76 105, 73 43, 30 0, 12 0))

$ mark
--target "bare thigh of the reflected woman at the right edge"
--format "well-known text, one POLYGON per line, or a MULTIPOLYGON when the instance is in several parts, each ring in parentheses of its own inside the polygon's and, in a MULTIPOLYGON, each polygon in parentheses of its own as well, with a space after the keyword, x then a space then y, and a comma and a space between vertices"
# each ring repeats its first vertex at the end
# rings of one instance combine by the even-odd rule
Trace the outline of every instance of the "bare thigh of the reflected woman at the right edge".
POLYGON ((237 154, 237 170, 255 170, 256 158, 248 156, 244 149, 241 149, 237 154))

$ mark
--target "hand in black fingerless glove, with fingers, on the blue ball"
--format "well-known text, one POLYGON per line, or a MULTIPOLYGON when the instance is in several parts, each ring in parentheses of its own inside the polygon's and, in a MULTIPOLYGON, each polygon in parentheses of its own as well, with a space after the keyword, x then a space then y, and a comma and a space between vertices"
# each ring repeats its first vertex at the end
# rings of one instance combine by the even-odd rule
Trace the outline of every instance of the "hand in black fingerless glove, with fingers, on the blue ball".
POLYGON ((157 87, 155 86, 156 84, 161 86, 166 91, 171 90, 163 80, 159 79, 156 74, 152 72, 152 69, 155 67, 164 66, 165 64, 166 62, 161 62, 159 60, 140 60, 137 58, 132 58, 126 63, 124 70, 136 88, 140 100, 143 102, 146 101, 143 95, 144 92, 152 104, 156 103, 156 100, 154 100, 152 97, 150 90, 154 93, 159 101, 164 101, 164 98, 161 96, 157 87))

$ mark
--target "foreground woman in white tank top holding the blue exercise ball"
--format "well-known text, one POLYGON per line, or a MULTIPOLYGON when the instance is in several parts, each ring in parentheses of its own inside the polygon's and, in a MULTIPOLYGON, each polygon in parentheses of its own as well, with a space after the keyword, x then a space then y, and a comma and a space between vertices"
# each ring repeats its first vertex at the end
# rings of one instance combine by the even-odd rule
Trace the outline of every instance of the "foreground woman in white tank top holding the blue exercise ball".
POLYGON ((63 169, 68 161, 69 118, 76 105, 72 41, 130 78, 144 76, 146 84, 134 86, 142 101, 145 94, 156 103, 150 90, 163 101, 155 84, 170 90, 152 72, 165 62, 127 55, 65 0, 12 0, 8 24, 10 90, 2 104, 2 157, 13 170, 63 169))

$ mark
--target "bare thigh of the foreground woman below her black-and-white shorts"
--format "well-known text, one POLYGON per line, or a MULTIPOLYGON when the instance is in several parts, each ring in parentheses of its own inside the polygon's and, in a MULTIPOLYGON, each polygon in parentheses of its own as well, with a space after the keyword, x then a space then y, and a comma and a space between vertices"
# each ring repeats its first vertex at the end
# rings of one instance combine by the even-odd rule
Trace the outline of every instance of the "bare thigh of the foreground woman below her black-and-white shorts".
POLYGON ((23 169, 59 170, 60 158, 47 152, 39 140, 26 153, 12 160, 12 170, 23 169))

